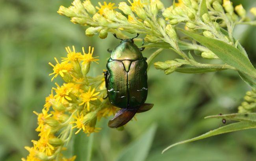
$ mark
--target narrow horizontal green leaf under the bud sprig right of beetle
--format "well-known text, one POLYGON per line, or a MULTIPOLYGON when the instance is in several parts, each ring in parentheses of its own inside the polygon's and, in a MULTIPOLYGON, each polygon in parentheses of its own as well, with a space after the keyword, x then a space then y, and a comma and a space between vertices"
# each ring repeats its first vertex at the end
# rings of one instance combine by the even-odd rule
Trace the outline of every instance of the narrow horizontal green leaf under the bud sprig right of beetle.
POLYGON ((175 71, 180 73, 188 73, 188 74, 201 74, 207 72, 217 72, 224 71, 226 69, 223 68, 177 68, 175 71))

